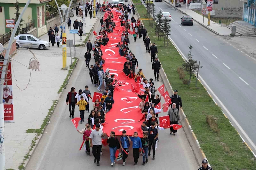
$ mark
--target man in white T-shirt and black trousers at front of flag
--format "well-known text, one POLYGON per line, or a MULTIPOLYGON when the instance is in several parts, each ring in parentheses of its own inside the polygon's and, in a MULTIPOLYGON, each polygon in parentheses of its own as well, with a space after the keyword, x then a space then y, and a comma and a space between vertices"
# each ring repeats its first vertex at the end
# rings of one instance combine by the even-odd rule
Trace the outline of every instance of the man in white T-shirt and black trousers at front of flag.
POLYGON ((103 133, 103 131, 100 130, 100 124, 97 123, 95 125, 95 129, 92 130, 92 133, 89 136, 92 147, 92 154, 94 156, 94 163, 97 161, 97 166, 100 166, 100 151, 102 149, 101 139, 105 135, 106 133, 103 133))

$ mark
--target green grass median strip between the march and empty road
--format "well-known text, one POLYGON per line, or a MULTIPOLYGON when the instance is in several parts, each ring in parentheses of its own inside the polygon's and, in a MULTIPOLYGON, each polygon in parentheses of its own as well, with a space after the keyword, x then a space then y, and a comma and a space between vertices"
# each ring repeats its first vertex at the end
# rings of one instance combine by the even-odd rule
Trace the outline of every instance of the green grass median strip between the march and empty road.
MULTIPOLYGON (((146 8, 136 4, 135 7, 140 17, 145 18, 143 15, 146 14, 146 8)), ((149 21, 143 20, 143 24, 151 42, 155 42, 157 45, 158 58, 172 88, 179 90, 183 110, 212 168, 216 170, 256 169, 256 160, 252 152, 243 143, 229 120, 225 118, 221 108, 215 105, 203 85, 197 83, 196 88, 195 78, 191 80, 190 88, 183 84, 183 80, 180 79, 177 72, 177 68, 182 67, 183 59, 176 48, 169 40, 168 47, 164 47, 163 37, 158 40, 154 28, 149 26, 149 21), (209 122, 217 123, 215 127, 218 127, 218 133, 215 132, 215 128, 210 127, 211 123, 209 122)), ((184 79, 188 78, 189 75, 186 74, 184 79)))

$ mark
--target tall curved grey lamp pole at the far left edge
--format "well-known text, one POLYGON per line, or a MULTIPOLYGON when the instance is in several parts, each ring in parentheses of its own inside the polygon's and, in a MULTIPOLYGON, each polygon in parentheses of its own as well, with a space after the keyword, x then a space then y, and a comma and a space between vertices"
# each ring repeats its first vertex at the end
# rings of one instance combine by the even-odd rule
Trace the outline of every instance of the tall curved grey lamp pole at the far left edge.
MULTIPOLYGON (((9 59, 9 53, 11 50, 11 46, 12 46, 12 40, 14 39, 15 33, 18 29, 18 26, 20 25, 20 20, 23 16, 23 14, 25 13, 26 9, 28 8, 29 3, 31 2, 31 0, 28 0, 28 2, 26 3, 26 5, 24 6, 22 12, 20 13, 20 16, 17 20, 17 22, 15 23, 15 26, 13 28, 12 31, 12 35, 10 37, 10 41, 8 43, 8 47, 6 49, 6 53, 4 56, 4 64, 3 64, 3 68, 2 68, 2 74, 1 74, 1 79, 0 79, 0 96, 2 99, 0 99, 0 135, 2 136, 2 138, 4 138, 4 103, 3 103, 3 88, 4 88, 4 80, 5 80, 5 75, 6 75, 6 66, 7 66, 7 61, 9 59)), ((4 170, 5 169, 5 154, 4 154, 4 140, 2 141, 2 143, 0 144, 0 170, 4 170)))

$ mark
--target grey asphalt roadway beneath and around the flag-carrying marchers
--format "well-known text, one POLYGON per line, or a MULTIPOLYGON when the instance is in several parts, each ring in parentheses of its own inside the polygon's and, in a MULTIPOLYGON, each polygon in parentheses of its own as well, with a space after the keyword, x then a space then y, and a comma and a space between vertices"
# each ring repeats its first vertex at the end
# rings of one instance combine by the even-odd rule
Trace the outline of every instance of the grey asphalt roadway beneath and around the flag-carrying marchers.
MULTIPOLYGON (((99 32, 99 21, 96 25, 96 32, 99 32)), ((130 49, 135 54, 139 62, 139 68, 142 68, 145 76, 154 78, 151 69, 150 55, 146 53, 145 46, 142 39, 137 42, 132 42, 132 35, 130 35, 130 49), (141 55, 142 54, 142 55, 141 55)), ((90 37, 95 40, 94 35, 90 37)), ((84 48, 84 52, 85 52, 84 48)), ((93 63, 93 59, 92 62, 93 63)), ((89 71, 84 67, 84 56, 79 56, 79 62, 76 66, 67 89, 64 90, 63 96, 58 103, 51 122, 47 126, 40 143, 36 147, 26 170, 73 170, 73 169, 94 169, 99 168, 93 163, 93 156, 85 155, 84 150, 79 151, 82 143, 82 135, 76 132, 76 129, 69 118, 68 106, 66 105, 66 94, 70 88, 74 86, 76 91, 84 89, 85 85, 89 85, 89 90, 93 93, 97 91, 96 87, 91 84, 89 78, 89 71)), ((139 68, 137 70, 139 70, 139 68)), ((136 70, 136 71, 137 71, 136 70)), ((159 87, 163 82, 155 82, 155 86, 159 87)), ((158 93, 158 92, 157 92, 158 93)), ((115 98, 114 98, 115 99, 115 98)), ((162 99, 164 100, 164 99, 162 99)), ((115 103, 117 104, 117 103, 115 103)), ((115 107, 115 104, 113 107, 115 107)), ((90 102, 92 109, 92 102, 90 102)), ((85 113, 85 117, 88 117, 85 113)), ((167 113, 162 113, 167 115, 167 113)), ((79 117, 79 109, 76 106, 75 117, 79 117)), ((78 129, 83 129, 85 123, 79 124, 78 129)), ((156 150, 156 160, 149 158, 146 166, 142 166, 142 157, 140 156, 137 167, 133 166, 132 153, 128 156, 127 164, 122 166, 122 161, 119 161, 114 167, 110 166, 109 149, 108 146, 103 147, 103 155, 100 158, 100 168, 105 169, 189 169, 195 170, 198 168, 195 157, 188 144, 188 140, 182 129, 178 130, 176 136, 169 134, 169 129, 159 132, 159 143, 156 150), (138 167, 139 166, 139 167, 138 167)), ((131 147, 130 147, 131 149, 131 147)), ((151 157, 152 158, 152 157, 151 157)))

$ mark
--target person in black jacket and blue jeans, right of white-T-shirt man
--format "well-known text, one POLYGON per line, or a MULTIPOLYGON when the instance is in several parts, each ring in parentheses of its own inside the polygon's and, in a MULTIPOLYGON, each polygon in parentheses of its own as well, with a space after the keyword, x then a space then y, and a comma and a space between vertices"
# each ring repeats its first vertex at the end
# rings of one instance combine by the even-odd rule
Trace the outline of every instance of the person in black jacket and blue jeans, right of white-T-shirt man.
POLYGON ((111 166, 114 166, 115 159, 116 159, 116 150, 120 148, 120 143, 117 137, 115 136, 115 132, 111 131, 110 135, 107 140, 108 146, 109 146, 109 152, 110 152, 110 160, 111 160, 111 166))

